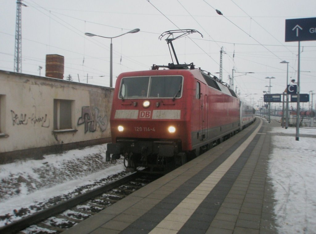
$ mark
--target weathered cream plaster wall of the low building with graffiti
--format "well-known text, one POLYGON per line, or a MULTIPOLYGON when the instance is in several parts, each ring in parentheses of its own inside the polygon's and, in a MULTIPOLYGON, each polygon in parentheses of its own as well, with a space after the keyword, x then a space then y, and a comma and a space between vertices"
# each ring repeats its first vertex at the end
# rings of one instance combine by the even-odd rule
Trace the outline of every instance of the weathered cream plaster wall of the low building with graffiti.
POLYGON ((110 138, 112 99, 113 88, 0 70, 0 154, 110 138), (54 99, 73 100, 71 129, 54 131, 54 99))

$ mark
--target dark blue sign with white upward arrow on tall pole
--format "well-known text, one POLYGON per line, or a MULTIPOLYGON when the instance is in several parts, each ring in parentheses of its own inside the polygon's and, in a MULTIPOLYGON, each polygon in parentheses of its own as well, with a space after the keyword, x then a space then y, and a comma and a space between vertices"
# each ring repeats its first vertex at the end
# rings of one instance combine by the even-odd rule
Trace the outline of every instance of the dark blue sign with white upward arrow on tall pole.
POLYGON ((316 40, 316 18, 285 20, 285 41, 316 40))

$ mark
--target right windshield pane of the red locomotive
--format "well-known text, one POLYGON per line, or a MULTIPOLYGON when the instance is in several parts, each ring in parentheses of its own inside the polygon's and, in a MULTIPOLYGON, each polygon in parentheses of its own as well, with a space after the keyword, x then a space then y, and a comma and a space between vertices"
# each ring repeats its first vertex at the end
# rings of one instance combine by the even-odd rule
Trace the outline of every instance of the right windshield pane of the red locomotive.
POLYGON ((181 76, 153 76, 150 81, 149 97, 180 97, 181 76))

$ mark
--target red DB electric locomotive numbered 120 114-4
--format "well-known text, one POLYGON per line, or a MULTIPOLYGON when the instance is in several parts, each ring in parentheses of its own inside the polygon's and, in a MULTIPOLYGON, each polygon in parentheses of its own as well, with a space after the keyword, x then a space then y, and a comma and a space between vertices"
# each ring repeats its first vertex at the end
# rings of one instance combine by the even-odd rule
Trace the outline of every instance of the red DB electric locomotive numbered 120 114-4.
POLYGON ((227 84, 193 63, 122 73, 114 89, 107 160, 123 155, 133 169, 181 165, 254 120, 253 108, 240 111, 241 104, 227 84))

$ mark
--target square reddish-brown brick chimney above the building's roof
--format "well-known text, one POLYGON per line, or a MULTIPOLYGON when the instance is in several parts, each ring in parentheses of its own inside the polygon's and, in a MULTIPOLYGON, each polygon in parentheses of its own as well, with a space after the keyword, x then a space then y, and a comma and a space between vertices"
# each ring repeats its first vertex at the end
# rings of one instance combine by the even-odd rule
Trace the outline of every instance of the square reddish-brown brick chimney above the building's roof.
POLYGON ((64 56, 46 55, 46 77, 64 79, 64 56))

